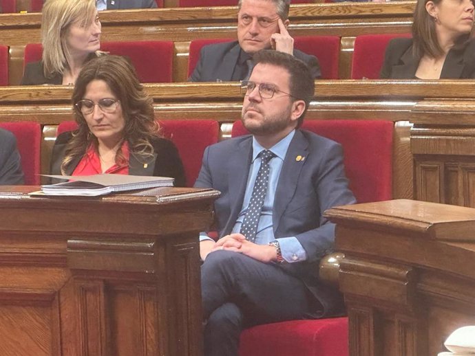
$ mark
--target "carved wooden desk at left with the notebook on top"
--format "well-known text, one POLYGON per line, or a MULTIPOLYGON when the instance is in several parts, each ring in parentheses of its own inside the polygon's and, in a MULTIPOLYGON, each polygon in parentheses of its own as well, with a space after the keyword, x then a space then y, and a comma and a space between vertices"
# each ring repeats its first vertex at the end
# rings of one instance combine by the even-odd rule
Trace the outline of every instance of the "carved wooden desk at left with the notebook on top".
POLYGON ((34 189, 0 187, 0 355, 202 355, 198 232, 219 192, 34 189))

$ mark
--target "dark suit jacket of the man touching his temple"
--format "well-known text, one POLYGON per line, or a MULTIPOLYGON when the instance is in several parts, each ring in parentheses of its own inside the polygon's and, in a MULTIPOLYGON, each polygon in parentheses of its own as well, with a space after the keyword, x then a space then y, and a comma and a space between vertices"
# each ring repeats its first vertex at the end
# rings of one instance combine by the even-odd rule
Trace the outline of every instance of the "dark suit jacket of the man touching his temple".
MULTIPOLYGON (((223 82, 231 81, 235 68, 239 66, 237 59, 239 58, 241 51, 241 46, 237 41, 214 43, 202 47, 200 60, 188 80, 191 82, 215 82, 217 80, 223 82)), ((321 78, 321 71, 317 57, 305 54, 298 49, 294 49, 293 55, 296 58, 303 60, 308 65, 313 78, 321 78)), ((244 78, 239 78, 237 80, 243 79, 244 78)))

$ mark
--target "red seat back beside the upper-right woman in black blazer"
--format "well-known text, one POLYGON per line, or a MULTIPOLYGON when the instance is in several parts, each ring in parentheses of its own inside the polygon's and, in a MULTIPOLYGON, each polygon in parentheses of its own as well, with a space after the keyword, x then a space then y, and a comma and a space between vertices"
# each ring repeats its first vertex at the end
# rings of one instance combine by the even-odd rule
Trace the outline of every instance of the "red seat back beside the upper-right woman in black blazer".
POLYGON ((379 79, 389 41, 410 34, 363 34, 355 39, 351 67, 352 79, 379 79))

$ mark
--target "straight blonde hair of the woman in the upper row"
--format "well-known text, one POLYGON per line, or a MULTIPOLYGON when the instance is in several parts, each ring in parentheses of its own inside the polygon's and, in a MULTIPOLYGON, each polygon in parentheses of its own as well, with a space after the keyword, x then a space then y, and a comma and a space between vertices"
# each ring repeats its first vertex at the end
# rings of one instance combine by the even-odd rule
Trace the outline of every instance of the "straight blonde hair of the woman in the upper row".
POLYGON ((46 78, 64 74, 70 52, 67 34, 72 23, 90 25, 96 19, 96 0, 47 0, 41 15, 43 71, 46 78))

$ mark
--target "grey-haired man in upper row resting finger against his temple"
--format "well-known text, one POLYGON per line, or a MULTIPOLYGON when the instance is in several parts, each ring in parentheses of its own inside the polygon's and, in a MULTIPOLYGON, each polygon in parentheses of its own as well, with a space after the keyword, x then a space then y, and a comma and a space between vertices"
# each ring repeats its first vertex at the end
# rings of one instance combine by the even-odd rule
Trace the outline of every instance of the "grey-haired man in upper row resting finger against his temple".
POLYGON ((290 0, 239 0, 237 41, 204 46, 189 80, 246 80, 252 70, 253 54, 271 47, 303 60, 313 78, 320 78, 318 59, 293 47, 293 38, 287 31, 289 6, 290 0))

